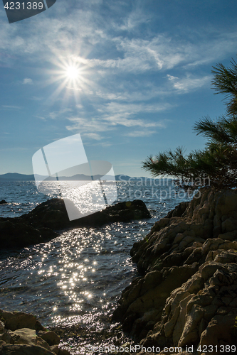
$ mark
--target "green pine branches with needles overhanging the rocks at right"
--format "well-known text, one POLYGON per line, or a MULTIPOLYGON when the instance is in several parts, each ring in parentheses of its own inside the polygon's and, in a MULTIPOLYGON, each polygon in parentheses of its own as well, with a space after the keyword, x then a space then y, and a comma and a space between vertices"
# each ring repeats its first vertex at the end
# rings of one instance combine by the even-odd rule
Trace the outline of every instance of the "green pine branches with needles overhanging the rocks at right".
POLYGON ((207 139, 204 150, 184 155, 179 147, 149 156, 142 168, 152 176, 173 175, 182 187, 193 189, 209 183, 217 188, 237 187, 237 64, 232 60, 230 69, 218 64, 212 72, 216 91, 228 98, 226 116, 216 121, 207 116, 194 125, 196 134, 207 139))

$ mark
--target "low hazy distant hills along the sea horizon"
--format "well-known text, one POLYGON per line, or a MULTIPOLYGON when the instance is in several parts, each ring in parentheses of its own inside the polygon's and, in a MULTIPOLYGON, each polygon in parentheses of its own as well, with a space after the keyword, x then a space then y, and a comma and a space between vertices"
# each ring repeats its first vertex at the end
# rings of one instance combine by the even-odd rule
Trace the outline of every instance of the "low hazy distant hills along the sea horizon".
MULTIPOLYGON (((98 180, 99 178, 102 178, 102 175, 95 175, 94 180, 98 180)), ((112 178, 112 177, 111 177, 112 178)), ((147 178, 141 177, 141 178, 132 178, 131 176, 128 175, 115 175, 115 180, 116 181, 128 181, 128 180, 146 180, 147 178)), ((24 174, 19 174, 19 173, 6 173, 3 175, 0 175, 0 182, 1 181, 34 181, 35 180, 35 176, 32 175, 24 175, 24 174)), ((46 181, 51 181, 51 180, 55 180, 55 178, 53 177, 49 177, 47 178, 46 176, 41 176, 38 175, 38 180, 46 180, 46 181)), ((77 174, 77 175, 73 175, 73 176, 62 176, 60 177, 60 180, 91 180, 91 177, 88 175, 84 175, 84 174, 77 174)), ((110 180, 110 176, 107 176, 107 180, 110 180)), ((153 179, 152 179, 153 180, 153 179)))

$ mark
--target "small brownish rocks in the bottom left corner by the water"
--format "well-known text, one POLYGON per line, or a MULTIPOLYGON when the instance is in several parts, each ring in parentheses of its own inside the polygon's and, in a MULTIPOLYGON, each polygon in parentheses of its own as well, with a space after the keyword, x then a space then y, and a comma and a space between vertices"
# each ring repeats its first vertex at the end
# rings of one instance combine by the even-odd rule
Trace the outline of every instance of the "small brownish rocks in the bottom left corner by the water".
POLYGON ((36 316, 0 310, 0 355, 70 355, 60 349, 60 338, 36 316))

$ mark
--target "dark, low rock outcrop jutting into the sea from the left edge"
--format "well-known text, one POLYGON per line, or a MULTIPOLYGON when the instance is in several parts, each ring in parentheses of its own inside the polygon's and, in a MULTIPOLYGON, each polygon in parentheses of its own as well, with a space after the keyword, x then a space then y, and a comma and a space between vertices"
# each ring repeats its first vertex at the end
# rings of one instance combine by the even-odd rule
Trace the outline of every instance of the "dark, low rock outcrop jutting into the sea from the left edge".
POLYGON ((53 239, 60 229, 80 226, 102 226, 112 222, 130 222, 132 219, 150 218, 141 200, 119 202, 102 211, 70 221, 62 199, 52 199, 39 204, 28 214, 15 218, 0 218, 1 249, 38 244, 53 239))

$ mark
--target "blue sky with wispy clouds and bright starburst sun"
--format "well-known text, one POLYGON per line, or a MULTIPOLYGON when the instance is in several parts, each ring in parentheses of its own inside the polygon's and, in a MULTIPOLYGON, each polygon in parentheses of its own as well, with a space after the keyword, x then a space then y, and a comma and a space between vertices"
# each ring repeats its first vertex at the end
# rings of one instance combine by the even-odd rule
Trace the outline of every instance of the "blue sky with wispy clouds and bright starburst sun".
POLYGON ((0 4, 0 174, 33 173, 39 148, 75 133, 89 160, 131 176, 149 176, 147 155, 203 148, 192 127, 225 112, 211 69, 236 58, 236 13, 236 1, 57 0, 9 24, 0 4))

